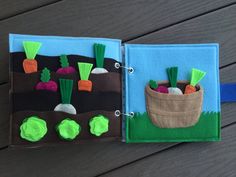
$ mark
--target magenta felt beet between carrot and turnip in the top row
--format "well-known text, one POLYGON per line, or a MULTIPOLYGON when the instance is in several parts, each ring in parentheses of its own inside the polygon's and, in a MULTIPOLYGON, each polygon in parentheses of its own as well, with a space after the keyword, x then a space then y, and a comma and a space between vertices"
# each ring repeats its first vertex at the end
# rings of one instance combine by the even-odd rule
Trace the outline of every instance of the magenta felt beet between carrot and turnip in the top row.
POLYGON ((58 74, 75 73, 75 68, 72 66, 69 66, 68 58, 66 55, 60 56, 60 63, 61 63, 61 68, 59 68, 56 73, 58 73, 58 74))

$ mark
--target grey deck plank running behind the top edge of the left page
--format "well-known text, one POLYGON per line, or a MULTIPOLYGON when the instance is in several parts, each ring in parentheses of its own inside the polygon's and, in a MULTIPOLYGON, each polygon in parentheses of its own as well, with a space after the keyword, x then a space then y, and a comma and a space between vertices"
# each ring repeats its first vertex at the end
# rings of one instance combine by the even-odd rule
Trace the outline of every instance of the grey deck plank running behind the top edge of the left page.
POLYGON ((0 21, 0 83, 8 81, 8 33, 110 37, 127 41, 232 3, 236 0, 148 3, 71 0, 0 21))

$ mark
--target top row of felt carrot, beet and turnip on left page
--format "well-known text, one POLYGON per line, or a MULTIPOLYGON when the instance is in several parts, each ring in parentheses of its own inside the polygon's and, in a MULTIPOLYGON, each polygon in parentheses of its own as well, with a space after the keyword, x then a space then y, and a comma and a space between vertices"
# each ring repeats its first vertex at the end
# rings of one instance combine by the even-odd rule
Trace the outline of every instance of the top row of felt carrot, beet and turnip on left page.
MULTIPOLYGON (((39 49, 41 48, 40 42, 23 41, 23 47, 26 53, 26 59, 23 60, 23 69, 25 73, 34 73, 38 71, 38 63, 35 60, 39 49)), ((92 70, 93 74, 108 73, 104 67, 104 56, 106 46, 103 44, 94 44, 94 54, 96 59, 96 67, 92 70)), ((61 68, 56 73, 58 74, 72 74, 75 73, 75 68, 69 65, 66 55, 60 56, 61 68)))

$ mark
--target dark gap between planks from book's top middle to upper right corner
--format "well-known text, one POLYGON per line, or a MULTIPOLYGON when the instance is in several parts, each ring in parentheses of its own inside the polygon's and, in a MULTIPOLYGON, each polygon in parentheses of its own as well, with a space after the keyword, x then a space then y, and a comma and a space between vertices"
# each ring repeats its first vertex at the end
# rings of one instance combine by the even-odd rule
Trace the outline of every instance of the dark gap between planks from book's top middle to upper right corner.
POLYGON ((137 35, 135 37, 132 37, 132 38, 127 38, 125 40, 122 41, 122 43, 125 43, 125 42, 129 42, 129 41, 132 41, 132 40, 136 40, 136 39, 139 39, 139 38, 142 38, 146 35, 150 35, 152 33, 155 33, 155 32, 158 32, 158 31, 161 31, 161 30, 164 30, 164 29, 167 29, 167 28, 170 28, 170 27, 173 27, 175 25, 179 25, 183 22, 187 22, 187 21, 190 21, 192 19, 195 19, 195 18, 198 18, 198 17, 202 17, 202 16, 205 16, 205 15, 208 15, 210 13, 213 13, 213 12, 216 12, 216 11, 219 11, 219 10, 223 10, 225 8, 228 8, 228 7, 231 7, 231 6, 234 6, 236 5, 236 2, 233 2, 233 3, 230 3, 230 4, 227 4, 227 5, 224 5, 222 7, 218 7, 218 8, 215 8, 215 9, 212 9, 212 10, 209 10, 209 11, 206 11, 206 12, 203 12, 203 13, 200 13, 198 15, 195 15, 195 16, 192 16, 192 17, 188 17, 186 19, 183 19, 183 20, 180 20, 180 21, 177 21, 175 23, 172 23, 172 24, 169 24, 169 25, 166 25, 166 26, 163 26, 161 28, 158 28, 158 29, 155 29, 155 30, 152 30, 152 31, 149 31, 147 33, 143 33, 143 34, 140 34, 140 35, 137 35))

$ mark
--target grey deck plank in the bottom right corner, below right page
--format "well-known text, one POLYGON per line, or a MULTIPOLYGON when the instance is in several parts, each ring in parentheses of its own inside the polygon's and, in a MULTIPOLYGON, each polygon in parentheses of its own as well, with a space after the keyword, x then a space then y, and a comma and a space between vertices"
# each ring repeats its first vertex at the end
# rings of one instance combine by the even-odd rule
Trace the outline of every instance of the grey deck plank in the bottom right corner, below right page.
POLYGON ((234 177, 236 174, 236 124, 223 129, 222 139, 218 143, 183 143, 101 176, 234 177))

